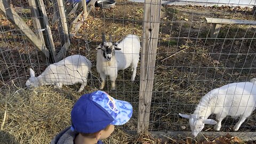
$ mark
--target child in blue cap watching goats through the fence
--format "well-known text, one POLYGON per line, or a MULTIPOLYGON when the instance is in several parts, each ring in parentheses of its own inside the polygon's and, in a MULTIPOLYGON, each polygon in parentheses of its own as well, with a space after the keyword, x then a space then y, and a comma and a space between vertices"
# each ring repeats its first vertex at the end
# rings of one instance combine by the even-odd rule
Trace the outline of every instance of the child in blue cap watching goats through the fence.
POLYGON ((129 102, 115 100, 106 92, 84 94, 71 110, 71 126, 53 138, 51 144, 103 143, 114 131, 114 125, 123 125, 132 117, 129 102))

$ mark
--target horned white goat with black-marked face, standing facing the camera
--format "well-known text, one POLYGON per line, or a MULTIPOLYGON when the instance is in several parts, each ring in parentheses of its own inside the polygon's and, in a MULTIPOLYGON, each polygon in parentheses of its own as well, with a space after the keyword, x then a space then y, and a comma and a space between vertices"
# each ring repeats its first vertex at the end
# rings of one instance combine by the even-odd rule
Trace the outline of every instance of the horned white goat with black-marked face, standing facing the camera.
POLYGON ((127 35, 122 42, 106 42, 105 35, 102 36, 102 43, 97 46, 97 70, 102 80, 100 90, 105 87, 105 79, 110 77, 111 90, 115 90, 115 81, 118 70, 132 66, 132 78, 134 81, 140 53, 140 39, 136 35, 127 35))

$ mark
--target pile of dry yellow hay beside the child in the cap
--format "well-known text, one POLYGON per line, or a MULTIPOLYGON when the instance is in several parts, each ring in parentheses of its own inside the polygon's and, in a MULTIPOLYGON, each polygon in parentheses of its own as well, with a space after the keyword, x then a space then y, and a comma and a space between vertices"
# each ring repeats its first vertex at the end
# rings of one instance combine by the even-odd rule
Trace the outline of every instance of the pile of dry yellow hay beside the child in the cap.
MULTIPOLYGON (((65 86, 28 90, 5 85, 5 88, 0 89, 0 143, 50 143, 54 135, 70 126, 70 111, 83 94, 65 86)), ((132 118, 126 125, 116 126, 105 143, 133 143, 136 139, 124 131, 135 130, 134 124, 137 121, 132 118)))

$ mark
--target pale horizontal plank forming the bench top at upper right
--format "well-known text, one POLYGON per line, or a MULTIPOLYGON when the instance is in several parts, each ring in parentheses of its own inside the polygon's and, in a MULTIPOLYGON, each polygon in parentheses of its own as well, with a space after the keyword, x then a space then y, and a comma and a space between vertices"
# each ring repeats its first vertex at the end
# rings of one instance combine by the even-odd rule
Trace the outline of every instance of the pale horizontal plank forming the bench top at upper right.
POLYGON ((218 23, 227 25, 253 25, 256 26, 256 21, 250 20, 236 20, 236 19, 217 19, 217 18, 205 18, 207 23, 218 23))

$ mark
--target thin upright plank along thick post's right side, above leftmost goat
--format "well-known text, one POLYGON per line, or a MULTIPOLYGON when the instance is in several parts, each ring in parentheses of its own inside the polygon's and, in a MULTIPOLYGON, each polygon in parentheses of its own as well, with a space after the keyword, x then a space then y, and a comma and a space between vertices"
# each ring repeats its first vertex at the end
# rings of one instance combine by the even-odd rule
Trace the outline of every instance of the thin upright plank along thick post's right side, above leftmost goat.
POLYGON ((43 20, 44 20, 45 30, 46 30, 46 34, 47 34, 46 36, 47 36, 47 40, 49 43, 48 46, 50 46, 53 61, 56 62, 56 52, 55 52, 55 46, 54 46, 53 37, 52 37, 52 30, 49 25, 49 20, 48 20, 47 14, 46 14, 43 0, 38 0, 38 4, 39 4, 39 10, 41 10, 41 12, 43 14, 43 20))

